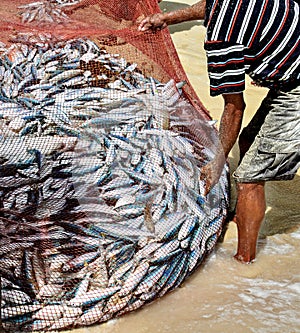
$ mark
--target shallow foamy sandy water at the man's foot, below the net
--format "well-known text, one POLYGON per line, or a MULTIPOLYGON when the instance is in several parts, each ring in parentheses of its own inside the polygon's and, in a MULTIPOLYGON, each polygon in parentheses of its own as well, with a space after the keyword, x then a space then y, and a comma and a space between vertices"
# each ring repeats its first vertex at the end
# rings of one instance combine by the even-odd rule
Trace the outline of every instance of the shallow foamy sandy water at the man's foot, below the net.
POLYGON ((235 225, 181 288, 119 319, 76 333, 296 333, 300 331, 300 230, 262 239, 236 262, 235 225))

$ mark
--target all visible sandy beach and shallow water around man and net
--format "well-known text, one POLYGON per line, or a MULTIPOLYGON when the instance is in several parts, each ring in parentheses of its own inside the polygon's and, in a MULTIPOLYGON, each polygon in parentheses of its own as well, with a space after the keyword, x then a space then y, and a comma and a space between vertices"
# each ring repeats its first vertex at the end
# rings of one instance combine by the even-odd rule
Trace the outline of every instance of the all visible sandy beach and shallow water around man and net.
MULTIPOLYGON (((196 1, 163 1, 171 10, 196 1)), ((209 97, 205 29, 201 21, 170 27, 186 73, 200 100, 219 120, 222 97, 209 97)), ((247 82, 250 120, 266 89, 247 82)), ((237 165, 235 146, 231 171, 237 165)), ((235 201, 232 183, 232 205, 235 201)), ((293 181, 267 184, 267 212, 261 228, 255 263, 236 262, 236 228, 231 222, 223 243, 181 288, 144 308, 108 323, 73 330, 73 333, 297 333, 300 332, 300 172, 293 181)))

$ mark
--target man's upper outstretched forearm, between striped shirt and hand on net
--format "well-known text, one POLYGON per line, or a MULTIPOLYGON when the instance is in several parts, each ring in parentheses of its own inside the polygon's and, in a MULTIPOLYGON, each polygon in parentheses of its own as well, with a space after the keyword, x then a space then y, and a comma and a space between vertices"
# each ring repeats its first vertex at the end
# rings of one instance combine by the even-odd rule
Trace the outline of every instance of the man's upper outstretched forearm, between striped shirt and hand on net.
POLYGON ((167 25, 177 24, 185 21, 203 20, 205 16, 206 1, 201 0, 194 5, 165 13, 164 20, 167 25))

